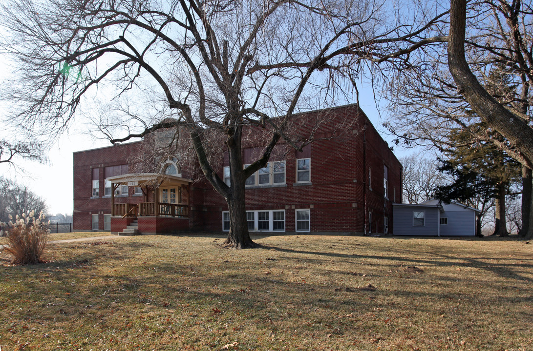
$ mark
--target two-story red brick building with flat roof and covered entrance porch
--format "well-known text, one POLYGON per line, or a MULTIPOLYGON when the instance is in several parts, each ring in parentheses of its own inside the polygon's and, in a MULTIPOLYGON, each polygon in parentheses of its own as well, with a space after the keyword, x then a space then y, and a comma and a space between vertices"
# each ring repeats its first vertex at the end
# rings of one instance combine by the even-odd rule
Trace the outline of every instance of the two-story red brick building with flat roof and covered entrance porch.
MULTIPOLYGON (((302 135, 314 131, 313 142, 302 152, 278 145, 268 166, 247 180, 248 228, 392 233, 392 203, 402 200, 402 166, 367 116, 357 105, 347 105, 296 120, 302 135)), ((263 146, 260 136, 268 133, 248 130, 245 164, 255 161, 263 146)), ((180 155, 154 162, 146 152, 149 144, 145 139, 74 153, 74 229, 228 230, 227 205, 198 176, 198 165, 180 168, 180 155)), ((225 180, 229 167, 223 156, 219 172, 225 180)))

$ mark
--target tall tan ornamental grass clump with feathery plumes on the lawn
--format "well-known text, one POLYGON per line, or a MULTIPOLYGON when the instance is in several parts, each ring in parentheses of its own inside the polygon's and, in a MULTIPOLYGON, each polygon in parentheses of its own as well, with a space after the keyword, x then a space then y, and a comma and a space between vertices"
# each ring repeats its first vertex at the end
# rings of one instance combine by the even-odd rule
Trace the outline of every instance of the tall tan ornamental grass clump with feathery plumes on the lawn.
MULTIPOLYGON (((17 215, 15 221, 9 221, 7 225, 7 245, 5 250, 13 256, 12 264, 35 264, 43 262, 41 256, 48 240, 48 223, 44 221, 44 214, 41 212, 38 218, 34 217, 35 212, 29 215, 25 213, 22 217, 17 215)), ((10 219, 13 217, 10 215, 10 219)), ((5 223, 1 223, 5 224, 5 223)))

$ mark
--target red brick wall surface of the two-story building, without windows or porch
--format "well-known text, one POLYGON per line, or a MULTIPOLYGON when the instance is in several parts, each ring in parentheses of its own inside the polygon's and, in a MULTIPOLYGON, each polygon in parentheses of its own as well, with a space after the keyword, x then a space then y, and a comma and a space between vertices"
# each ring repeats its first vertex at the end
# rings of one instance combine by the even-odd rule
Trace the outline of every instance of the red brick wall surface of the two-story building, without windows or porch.
MULTIPOLYGON (((364 113, 356 105, 350 105, 305 113, 295 121, 293 133, 301 138, 315 132, 313 143, 305 151, 311 158, 311 182, 296 183, 296 160, 302 158, 302 154, 280 143, 276 148, 278 155, 272 158, 286 162, 285 185, 247 188, 247 210, 285 210, 288 232, 295 231, 298 208, 310 209, 312 232, 363 232, 368 225, 368 213, 372 212, 373 232, 383 232, 384 216, 389 216, 389 232, 393 232, 392 202, 395 199, 401 203, 401 164, 364 113), (389 169, 387 198, 383 188, 384 165, 389 169), (372 170, 372 190, 367 179, 368 168, 372 170)), ((263 129, 249 127, 246 134, 245 148, 261 150, 268 142, 263 129)), ((74 154, 75 229, 90 229, 92 211, 110 213, 110 199, 90 198, 91 168, 101 168, 100 194, 103 194, 103 167, 124 162, 132 164, 130 168, 135 167, 142 159, 138 155, 142 153, 142 143, 144 141, 74 154)), ((222 156, 220 158, 218 171, 222 177, 222 156)), ((187 199, 190 204, 190 228, 220 232, 222 211, 227 210, 227 204, 198 174, 198 165, 182 169, 183 177, 195 179, 189 193, 182 191, 183 202, 187 199)), ((118 198, 116 202, 131 203, 132 199, 133 196, 129 200, 118 198)), ((144 201, 143 197, 139 197, 138 202, 141 200, 144 201)), ((151 200, 153 195, 149 194, 148 201, 151 200)), ((165 223, 181 225, 172 221, 165 223)), ((101 225, 103 228, 103 219, 101 225)), ((163 225, 160 229, 169 227, 163 225)))

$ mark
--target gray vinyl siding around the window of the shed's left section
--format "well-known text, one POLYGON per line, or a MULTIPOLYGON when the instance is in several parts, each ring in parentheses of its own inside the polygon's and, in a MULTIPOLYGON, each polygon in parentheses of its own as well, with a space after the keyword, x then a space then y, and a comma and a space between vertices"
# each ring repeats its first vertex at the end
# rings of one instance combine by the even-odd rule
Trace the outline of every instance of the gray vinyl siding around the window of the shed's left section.
POLYGON ((437 207, 393 206, 394 235, 437 236, 437 207), (424 226, 413 225, 413 211, 424 211, 424 226))

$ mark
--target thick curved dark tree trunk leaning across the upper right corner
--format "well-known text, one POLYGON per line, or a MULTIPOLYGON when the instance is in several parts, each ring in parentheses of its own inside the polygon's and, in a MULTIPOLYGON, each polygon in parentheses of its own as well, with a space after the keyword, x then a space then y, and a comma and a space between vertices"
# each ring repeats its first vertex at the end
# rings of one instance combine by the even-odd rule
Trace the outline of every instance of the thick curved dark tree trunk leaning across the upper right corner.
POLYGON ((458 92, 484 122, 509 140, 531 164, 533 128, 490 96, 472 74, 465 59, 465 26, 466 0, 451 0, 448 67, 457 84, 458 92))

